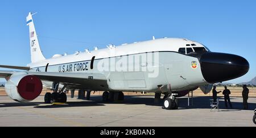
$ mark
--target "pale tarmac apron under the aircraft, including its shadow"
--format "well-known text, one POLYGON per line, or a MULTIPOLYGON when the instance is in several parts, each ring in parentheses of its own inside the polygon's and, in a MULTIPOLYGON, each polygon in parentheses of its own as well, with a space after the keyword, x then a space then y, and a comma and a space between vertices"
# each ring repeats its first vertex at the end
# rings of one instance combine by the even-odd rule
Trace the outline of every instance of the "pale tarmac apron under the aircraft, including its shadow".
POLYGON ((210 97, 193 98, 188 107, 186 97, 180 98, 178 110, 163 110, 154 103, 154 96, 126 96, 125 101, 102 102, 68 98, 61 105, 43 103, 42 96, 30 103, 18 103, 0 96, 0 126, 84 126, 84 127, 181 127, 181 126, 251 126, 256 98, 249 98, 249 110, 241 110, 242 98, 232 97, 233 109, 225 109, 220 99, 220 111, 210 111, 210 97))

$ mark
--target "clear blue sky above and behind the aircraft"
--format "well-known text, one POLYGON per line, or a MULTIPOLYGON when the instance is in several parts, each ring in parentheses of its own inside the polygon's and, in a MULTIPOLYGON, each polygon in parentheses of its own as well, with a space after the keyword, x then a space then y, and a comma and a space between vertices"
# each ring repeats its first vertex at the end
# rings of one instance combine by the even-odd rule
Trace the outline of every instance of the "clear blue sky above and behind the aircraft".
MULTIPOLYGON (((26 66, 30 44, 26 16, 34 16, 44 55, 105 48, 152 36, 195 40, 212 51, 241 55, 256 76, 256 1, 13 1, 0 2, 1 63, 26 66)), ((2 69, 1 69, 2 70, 2 69)))

